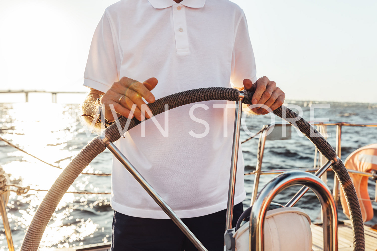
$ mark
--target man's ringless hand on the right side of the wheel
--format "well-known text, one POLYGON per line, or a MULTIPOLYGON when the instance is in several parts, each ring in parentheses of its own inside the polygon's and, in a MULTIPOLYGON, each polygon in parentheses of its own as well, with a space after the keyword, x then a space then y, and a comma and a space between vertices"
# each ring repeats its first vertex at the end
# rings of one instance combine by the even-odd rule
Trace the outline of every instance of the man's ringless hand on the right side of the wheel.
MULTIPOLYGON (((270 81, 267 77, 259 78, 256 83, 252 83, 250 79, 244 79, 244 89, 250 92, 254 92, 251 99, 252 104, 264 104, 270 107, 271 110, 275 110, 284 103, 285 93, 276 87, 274 81, 270 81)), ((251 109, 257 114, 267 114, 268 110, 264 108, 251 109)))

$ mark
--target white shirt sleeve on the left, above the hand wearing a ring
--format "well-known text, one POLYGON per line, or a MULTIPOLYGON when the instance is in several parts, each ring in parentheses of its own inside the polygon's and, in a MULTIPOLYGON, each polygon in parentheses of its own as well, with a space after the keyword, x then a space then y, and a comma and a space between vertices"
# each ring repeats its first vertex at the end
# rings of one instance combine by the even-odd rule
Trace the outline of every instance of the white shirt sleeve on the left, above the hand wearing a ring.
POLYGON ((95 29, 84 72, 84 86, 106 92, 119 80, 120 53, 107 12, 95 29))

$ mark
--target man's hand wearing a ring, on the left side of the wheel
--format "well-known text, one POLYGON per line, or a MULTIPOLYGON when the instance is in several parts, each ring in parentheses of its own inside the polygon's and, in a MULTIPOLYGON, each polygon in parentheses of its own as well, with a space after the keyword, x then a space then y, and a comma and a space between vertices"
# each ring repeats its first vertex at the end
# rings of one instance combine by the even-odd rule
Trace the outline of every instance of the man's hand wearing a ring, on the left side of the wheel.
MULTIPOLYGON (((149 78, 148 80, 140 83, 139 81, 131 78, 123 77, 118 82, 112 84, 109 90, 103 94, 101 104, 104 105, 104 117, 108 121, 115 121, 116 118, 112 115, 110 104, 114 106, 114 110, 118 116, 122 115, 129 118, 132 106, 136 104, 136 109, 133 116, 142 121, 144 115, 141 113, 141 106, 146 104, 143 98, 148 103, 155 102, 155 96, 150 92, 157 85, 156 78, 149 78)), ((148 107, 144 109, 149 109, 148 107)), ((146 111, 145 116, 150 118, 146 111)))

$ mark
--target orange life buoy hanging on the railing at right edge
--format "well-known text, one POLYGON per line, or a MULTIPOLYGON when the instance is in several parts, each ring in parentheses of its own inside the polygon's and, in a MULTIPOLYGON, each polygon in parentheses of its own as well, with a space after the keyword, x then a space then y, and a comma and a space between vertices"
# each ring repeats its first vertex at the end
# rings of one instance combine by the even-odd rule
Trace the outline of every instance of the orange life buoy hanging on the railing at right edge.
MULTIPOLYGON (((344 165, 347 169, 371 173, 377 170, 377 144, 370 144, 357 149, 351 153, 344 165)), ((359 199, 363 222, 373 218, 372 202, 368 194, 368 176, 356 173, 349 173, 355 186, 357 197, 359 199)), ((342 188, 340 188, 340 202, 342 203, 343 213, 349 219, 349 211, 342 188)))

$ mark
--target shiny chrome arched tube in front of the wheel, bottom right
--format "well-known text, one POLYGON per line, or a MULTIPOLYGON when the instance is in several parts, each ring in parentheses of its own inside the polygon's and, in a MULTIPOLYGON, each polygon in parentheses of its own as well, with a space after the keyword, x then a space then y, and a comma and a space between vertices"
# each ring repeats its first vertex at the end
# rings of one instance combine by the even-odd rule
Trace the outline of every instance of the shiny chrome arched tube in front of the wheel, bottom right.
POLYGON ((314 191, 323 208, 323 251, 337 251, 337 213, 334 197, 318 177, 304 171, 288 171, 268 182, 257 196, 250 213, 249 251, 264 251, 264 220, 273 198, 292 185, 304 185, 314 191))

